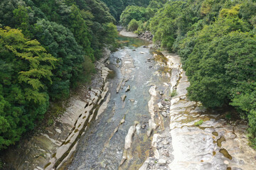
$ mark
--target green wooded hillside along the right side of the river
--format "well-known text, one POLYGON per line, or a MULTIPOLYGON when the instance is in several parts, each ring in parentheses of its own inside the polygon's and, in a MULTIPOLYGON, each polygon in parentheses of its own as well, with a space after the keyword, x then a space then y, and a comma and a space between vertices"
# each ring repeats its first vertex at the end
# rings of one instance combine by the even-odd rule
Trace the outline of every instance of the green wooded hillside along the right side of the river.
POLYGON ((120 23, 150 30, 161 49, 178 53, 191 82, 188 97, 207 108, 234 106, 256 145, 255 0, 150 1, 127 6, 120 23))

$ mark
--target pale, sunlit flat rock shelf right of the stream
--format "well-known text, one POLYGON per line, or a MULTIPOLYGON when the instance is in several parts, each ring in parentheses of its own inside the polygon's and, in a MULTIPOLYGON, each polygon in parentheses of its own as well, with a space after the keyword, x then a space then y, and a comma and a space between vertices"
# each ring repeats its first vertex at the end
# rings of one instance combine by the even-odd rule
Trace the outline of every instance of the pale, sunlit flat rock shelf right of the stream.
MULTIPOLYGON (((172 69, 171 91, 176 90, 168 103, 170 124, 153 138, 154 157, 146 159, 142 169, 256 169, 256 152, 247 145, 247 125, 230 125, 219 118, 220 114, 189 101, 189 82, 179 57, 166 58, 172 69)), ((164 108, 162 103, 158 106, 164 108)))

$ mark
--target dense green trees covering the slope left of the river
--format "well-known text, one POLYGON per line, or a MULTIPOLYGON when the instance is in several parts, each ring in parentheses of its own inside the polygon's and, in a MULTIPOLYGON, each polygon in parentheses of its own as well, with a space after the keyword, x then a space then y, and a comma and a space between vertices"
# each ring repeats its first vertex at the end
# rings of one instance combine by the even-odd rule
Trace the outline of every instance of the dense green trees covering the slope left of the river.
POLYGON ((89 79, 102 48, 115 44, 114 23, 100 0, 0 2, 0 149, 89 79))

